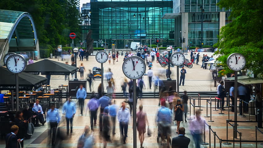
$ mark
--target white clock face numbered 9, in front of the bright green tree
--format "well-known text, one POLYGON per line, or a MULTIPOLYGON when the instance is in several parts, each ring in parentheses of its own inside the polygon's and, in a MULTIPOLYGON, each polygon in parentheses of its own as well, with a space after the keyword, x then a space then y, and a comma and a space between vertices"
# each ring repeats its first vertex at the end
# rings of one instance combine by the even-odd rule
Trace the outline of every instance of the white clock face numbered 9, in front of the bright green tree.
POLYGON ((245 67, 246 59, 240 53, 232 53, 228 56, 227 64, 231 70, 240 71, 245 67))

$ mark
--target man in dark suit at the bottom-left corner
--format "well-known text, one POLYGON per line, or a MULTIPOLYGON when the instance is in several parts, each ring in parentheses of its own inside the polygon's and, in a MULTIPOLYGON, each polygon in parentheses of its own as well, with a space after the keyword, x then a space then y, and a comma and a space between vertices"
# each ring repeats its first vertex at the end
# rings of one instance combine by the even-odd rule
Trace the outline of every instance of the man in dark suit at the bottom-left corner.
POLYGON ((11 133, 6 135, 6 148, 20 148, 21 139, 17 139, 18 126, 13 125, 10 128, 11 133))

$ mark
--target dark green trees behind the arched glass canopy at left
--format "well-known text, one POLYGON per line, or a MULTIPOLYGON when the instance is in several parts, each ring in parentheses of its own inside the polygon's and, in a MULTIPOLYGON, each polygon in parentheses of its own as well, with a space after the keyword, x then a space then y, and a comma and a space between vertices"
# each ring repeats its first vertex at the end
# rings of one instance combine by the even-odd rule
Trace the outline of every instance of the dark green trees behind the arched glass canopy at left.
MULTIPOLYGON (((80 12, 75 0, 26 0, 0 1, 0 9, 28 12, 31 14, 40 44, 65 45, 71 42, 70 32, 75 32, 75 42, 81 38, 80 12)), ((50 47, 44 49, 51 49, 50 47)), ((53 52, 53 49, 51 49, 53 52)))

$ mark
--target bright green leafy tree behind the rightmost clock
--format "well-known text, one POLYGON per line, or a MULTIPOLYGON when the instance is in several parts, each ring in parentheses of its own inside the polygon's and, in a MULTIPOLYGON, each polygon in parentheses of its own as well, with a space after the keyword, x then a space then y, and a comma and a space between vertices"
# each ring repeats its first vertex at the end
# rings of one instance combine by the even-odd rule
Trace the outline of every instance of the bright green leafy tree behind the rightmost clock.
POLYGON ((243 54, 247 64, 244 70, 263 78, 263 3, 261 0, 221 0, 219 7, 231 8, 232 23, 220 29, 219 41, 214 45, 220 51, 218 61, 225 67, 222 74, 233 73, 227 68, 227 57, 234 52, 243 54))

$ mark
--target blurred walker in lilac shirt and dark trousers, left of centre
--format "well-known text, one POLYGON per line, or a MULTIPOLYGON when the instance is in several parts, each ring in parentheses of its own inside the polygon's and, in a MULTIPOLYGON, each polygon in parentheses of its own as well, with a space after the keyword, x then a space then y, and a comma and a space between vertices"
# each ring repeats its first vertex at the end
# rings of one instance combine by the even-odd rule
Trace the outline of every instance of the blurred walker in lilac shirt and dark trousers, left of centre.
POLYGON ((90 109, 90 128, 93 130, 93 119, 94 124, 97 123, 98 101, 94 92, 92 92, 90 98, 91 99, 87 104, 86 111, 90 109))

